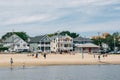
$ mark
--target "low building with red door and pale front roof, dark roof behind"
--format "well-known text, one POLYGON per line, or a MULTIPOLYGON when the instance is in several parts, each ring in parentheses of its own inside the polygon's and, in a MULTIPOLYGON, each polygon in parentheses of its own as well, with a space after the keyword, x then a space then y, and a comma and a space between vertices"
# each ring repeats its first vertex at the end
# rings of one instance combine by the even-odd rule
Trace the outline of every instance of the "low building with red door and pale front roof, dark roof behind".
POLYGON ((92 40, 84 37, 77 37, 73 39, 74 51, 81 53, 97 53, 99 46, 93 44, 92 40))

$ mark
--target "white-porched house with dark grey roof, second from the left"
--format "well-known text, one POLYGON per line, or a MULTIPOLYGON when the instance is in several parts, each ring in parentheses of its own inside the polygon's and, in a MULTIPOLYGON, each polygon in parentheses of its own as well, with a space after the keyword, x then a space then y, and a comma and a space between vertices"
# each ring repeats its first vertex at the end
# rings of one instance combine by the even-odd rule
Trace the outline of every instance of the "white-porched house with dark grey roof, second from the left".
POLYGON ((50 38, 47 35, 41 35, 30 38, 30 51, 50 52, 50 38))

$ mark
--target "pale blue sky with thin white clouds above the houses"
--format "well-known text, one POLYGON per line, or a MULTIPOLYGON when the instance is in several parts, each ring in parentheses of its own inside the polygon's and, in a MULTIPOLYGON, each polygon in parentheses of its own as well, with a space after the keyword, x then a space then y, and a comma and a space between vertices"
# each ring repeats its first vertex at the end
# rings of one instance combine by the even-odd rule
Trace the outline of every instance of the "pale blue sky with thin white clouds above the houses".
POLYGON ((120 0, 0 0, 0 37, 13 30, 29 36, 120 32, 120 0))

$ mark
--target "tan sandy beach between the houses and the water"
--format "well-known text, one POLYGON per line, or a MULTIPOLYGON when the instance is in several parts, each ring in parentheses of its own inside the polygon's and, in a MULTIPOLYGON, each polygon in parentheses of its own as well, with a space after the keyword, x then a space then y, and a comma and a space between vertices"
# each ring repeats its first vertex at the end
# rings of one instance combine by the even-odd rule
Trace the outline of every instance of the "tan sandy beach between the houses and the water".
POLYGON ((80 65, 80 64, 120 64, 120 55, 98 55, 80 53, 74 54, 47 54, 46 59, 39 54, 38 58, 28 54, 0 54, 0 67, 10 67, 10 58, 13 59, 13 67, 17 66, 44 66, 44 65, 80 65))

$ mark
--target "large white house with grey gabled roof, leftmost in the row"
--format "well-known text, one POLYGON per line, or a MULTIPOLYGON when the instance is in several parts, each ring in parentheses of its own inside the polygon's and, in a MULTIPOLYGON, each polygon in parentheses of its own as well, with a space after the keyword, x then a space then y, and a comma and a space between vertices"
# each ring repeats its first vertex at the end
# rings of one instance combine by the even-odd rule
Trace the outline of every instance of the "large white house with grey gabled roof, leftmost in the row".
POLYGON ((26 41, 20 38, 18 35, 13 34, 3 41, 3 46, 8 47, 9 51, 28 51, 29 46, 26 41))

